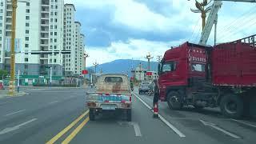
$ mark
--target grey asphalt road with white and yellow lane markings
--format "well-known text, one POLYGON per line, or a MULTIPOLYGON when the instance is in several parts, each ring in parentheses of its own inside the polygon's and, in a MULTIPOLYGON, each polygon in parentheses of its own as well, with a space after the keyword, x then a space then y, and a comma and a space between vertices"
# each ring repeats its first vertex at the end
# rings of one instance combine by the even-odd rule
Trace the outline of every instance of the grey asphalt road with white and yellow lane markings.
MULTIPOLYGON (((23 89, 24 90, 24 89, 23 89)), ((170 110, 160 102, 152 118, 152 96, 134 90, 132 122, 98 116, 91 122, 82 88, 27 88, 22 97, 0 99, 0 143, 255 143, 256 122, 232 120, 218 110, 170 110)))

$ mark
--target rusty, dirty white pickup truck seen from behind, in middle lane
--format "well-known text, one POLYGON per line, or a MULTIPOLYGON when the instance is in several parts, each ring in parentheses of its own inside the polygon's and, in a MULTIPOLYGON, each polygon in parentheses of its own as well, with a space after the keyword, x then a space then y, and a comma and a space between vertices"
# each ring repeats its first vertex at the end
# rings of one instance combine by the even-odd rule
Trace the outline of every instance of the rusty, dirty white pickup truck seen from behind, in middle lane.
POLYGON ((86 93, 86 105, 89 107, 89 118, 102 112, 121 111, 131 121, 130 81, 124 74, 101 74, 96 82, 96 92, 86 93))

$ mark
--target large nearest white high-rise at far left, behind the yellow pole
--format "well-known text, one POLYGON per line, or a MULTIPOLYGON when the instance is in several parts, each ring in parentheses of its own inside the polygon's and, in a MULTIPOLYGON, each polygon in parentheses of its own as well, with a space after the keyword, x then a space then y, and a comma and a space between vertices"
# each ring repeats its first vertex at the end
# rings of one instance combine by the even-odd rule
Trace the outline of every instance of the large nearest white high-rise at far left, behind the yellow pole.
MULTIPOLYGON (((25 75, 62 75, 62 54, 31 54, 60 51, 63 42, 63 0, 18 2, 16 16, 15 70, 25 75)), ((11 2, 0 0, 0 68, 10 70, 11 2), (2 25, 2 26, 1 26, 2 25)))

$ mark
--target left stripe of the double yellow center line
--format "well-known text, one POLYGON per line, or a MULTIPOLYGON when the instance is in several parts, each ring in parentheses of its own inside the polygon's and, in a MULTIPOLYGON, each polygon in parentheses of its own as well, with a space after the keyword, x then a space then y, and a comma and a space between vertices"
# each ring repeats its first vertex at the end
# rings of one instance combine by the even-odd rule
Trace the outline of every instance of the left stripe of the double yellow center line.
POLYGON ((54 138, 51 138, 50 141, 46 142, 46 144, 53 144, 54 142, 56 142, 58 138, 61 138, 63 134, 65 134, 68 130, 70 130, 76 123, 78 123, 88 113, 89 113, 89 110, 86 110, 84 114, 80 115, 77 119, 74 120, 74 122, 70 123, 69 126, 66 126, 65 129, 63 129, 61 132, 55 135, 54 138))

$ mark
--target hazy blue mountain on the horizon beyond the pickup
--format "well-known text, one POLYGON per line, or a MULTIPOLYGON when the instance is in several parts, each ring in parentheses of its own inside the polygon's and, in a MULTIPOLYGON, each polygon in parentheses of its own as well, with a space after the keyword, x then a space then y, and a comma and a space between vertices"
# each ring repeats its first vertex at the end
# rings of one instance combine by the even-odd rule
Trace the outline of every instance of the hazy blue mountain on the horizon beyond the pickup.
MULTIPOLYGON (((117 73, 127 74, 130 76, 132 68, 136 68, 139 63, 142 63, 142 68, 147 70, 147 62, 132 59, 117 59, 112 62, 102 63, 97 66, 97 73, 102 70, 103 73, 117 73)), ((89 69, 94 70, 94 66, 90 66, 89 69)), ((150 62, 150 70, 157 70, 158 62, 150 62)))

